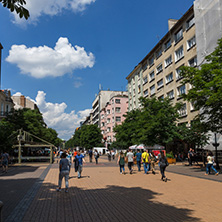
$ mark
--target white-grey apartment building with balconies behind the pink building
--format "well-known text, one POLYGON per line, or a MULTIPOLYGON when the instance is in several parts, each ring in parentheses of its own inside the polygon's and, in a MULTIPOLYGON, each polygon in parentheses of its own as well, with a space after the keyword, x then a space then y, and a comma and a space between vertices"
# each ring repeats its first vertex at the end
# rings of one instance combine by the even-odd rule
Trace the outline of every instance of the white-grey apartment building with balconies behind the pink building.
POLYGON ((97 124, 101 126, 100 112, 106 106, 107 102, 111 97, 119 94, 124 94, 123 91, 110 91, 110 90, 100 90, 95 100, 92 103, 92 124, 97 124))

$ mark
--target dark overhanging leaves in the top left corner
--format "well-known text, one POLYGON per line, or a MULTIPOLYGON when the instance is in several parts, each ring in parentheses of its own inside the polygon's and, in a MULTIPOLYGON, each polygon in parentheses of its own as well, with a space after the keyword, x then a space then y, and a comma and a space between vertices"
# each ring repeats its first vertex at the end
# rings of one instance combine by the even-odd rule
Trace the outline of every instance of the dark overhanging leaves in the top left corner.
POLYGON ((0 0, 3 7, 10 9, 11 12, 16 12, 20 18, 24 17, 26 20, 30 17, 29 11, 23 7, 26 4, 25 0, 0 0))

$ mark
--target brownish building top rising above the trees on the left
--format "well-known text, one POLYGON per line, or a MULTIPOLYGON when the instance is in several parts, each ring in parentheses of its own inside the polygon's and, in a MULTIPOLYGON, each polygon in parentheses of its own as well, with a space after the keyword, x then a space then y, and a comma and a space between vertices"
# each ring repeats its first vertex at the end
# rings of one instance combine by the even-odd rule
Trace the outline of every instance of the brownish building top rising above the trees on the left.
POLYGON ((23 108, 28 108, 32 110, 39 110, 38 106, 36 103, 28 98, 26 98, 23 95, 19 96, 12 96, 12 100, 15 103, 15 109, 23 109, 23 108))

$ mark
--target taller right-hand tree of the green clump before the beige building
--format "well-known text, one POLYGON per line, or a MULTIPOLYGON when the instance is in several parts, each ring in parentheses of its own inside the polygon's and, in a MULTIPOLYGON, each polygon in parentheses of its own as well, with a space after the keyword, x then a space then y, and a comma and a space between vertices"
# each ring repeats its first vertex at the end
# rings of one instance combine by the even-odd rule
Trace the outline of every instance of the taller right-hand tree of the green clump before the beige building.
POLYGON ((179 137, 176 122, 181 104, 173 106, 168 98, 141 98, 141 116, 137 134, 145 145, 166 145, 179 137))

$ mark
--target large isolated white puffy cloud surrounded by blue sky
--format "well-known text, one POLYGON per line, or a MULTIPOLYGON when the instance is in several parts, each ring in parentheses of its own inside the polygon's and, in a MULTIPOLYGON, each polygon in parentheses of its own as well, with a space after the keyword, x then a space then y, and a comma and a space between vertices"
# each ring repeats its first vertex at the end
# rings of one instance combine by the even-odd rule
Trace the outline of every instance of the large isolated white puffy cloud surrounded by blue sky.
POLYGON ((83 47, 73 47, 67 38, 60 37, 54 48, 13 45, 6 61, 16 64, 22 74, 44 78, 63 76, 76 69, 92 68, 95 57, 83 47))

